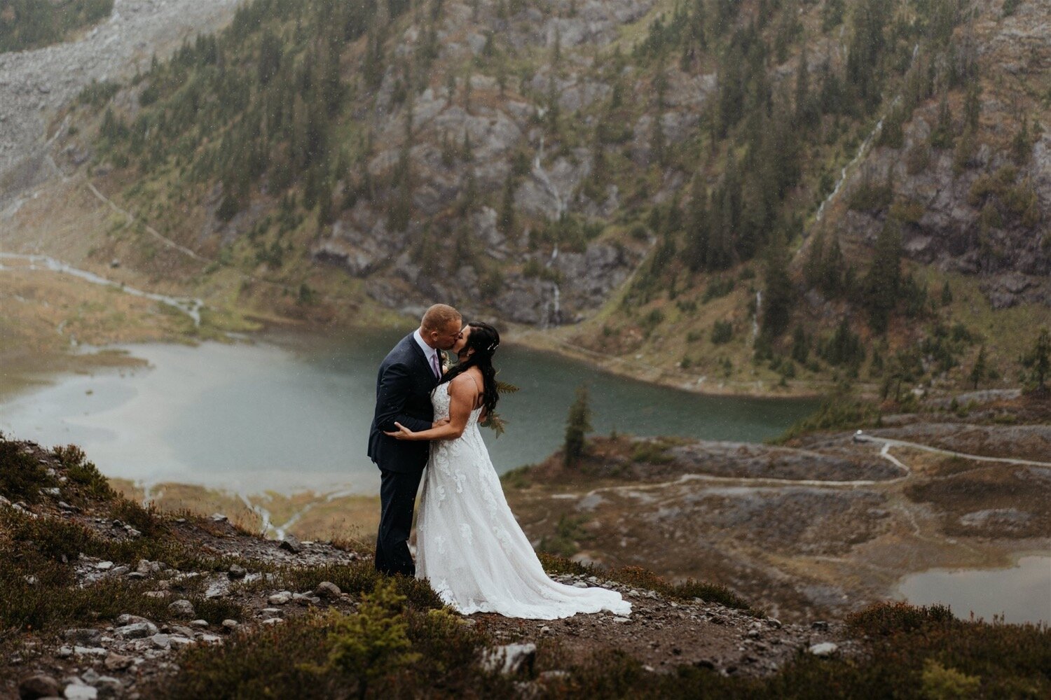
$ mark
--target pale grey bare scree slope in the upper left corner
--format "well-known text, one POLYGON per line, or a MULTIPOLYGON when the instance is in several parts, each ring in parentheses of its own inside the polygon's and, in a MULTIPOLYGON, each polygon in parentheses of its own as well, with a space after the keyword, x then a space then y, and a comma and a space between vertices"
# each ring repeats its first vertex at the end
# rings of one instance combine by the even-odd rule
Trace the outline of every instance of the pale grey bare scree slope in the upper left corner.
POLYGON ((0 205, 48 178, 47 120, 91 81, 149 66, 186 37, 221 27, 239 0, 115 0, 77 41, 0 54, 0 205))

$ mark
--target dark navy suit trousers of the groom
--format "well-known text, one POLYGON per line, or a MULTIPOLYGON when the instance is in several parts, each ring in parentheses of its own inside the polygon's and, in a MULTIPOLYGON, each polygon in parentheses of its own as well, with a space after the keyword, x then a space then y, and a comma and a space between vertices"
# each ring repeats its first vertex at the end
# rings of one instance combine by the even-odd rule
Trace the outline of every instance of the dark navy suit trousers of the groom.
POLYGON ((409 552, 409 533, 423 470, 400 473, 379 470, 379 532, 376 535, 376 571, 385 574, 416 575, 409 552))

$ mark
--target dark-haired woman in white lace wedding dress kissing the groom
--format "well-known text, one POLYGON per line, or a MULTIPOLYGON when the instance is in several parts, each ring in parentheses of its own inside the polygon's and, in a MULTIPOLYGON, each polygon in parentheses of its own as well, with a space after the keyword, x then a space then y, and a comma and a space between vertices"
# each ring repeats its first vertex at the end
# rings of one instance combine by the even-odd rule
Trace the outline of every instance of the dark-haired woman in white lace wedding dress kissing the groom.
POLYGON ((626 615, 615 591, 579 589, 552 580, 503 497, 478 422, 499 398, 493 353, 496 328, 472 322, 453 346, 459 357, 431 394, 429 430, 398 423, 398 440, 430 440, 431 454, 416 526, 416 577, 430 579, 442 601, 465 615, 557 619, 600 610, 626 615), (448 421, 448 422, 442 422, 448 421))

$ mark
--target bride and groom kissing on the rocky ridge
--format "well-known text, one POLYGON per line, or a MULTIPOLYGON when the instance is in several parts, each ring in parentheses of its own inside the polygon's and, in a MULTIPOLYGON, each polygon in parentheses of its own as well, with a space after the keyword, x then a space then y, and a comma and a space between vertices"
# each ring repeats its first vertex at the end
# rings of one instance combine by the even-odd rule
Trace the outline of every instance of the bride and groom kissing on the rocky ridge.
POLYGON ((508 506, 478 430, 499 399, 499 346, 489 323, 465 325, 455 309, 434 304, 379 365, 368 451, 380 473, 376 569, 429 580, 465 615, 628 614, 615 591, 552 580, 508 506), (458 362, 444 368, 441 352, 458 362), (409 534, 420 481, 414 564, 409 534))

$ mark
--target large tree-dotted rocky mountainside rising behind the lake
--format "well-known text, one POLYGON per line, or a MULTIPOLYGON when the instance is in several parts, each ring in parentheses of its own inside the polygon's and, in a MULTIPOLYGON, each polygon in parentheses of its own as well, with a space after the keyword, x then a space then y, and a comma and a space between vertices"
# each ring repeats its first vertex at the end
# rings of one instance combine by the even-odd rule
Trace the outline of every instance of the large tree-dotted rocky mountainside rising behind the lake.
POLYGON ((959 388, 983 346, 1014 384, 1043 2, 251 3, 67 104, 0 242, 266 317, 441 298, 701 390, 959 388))

